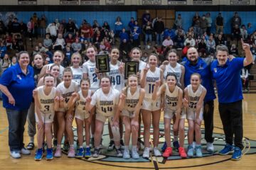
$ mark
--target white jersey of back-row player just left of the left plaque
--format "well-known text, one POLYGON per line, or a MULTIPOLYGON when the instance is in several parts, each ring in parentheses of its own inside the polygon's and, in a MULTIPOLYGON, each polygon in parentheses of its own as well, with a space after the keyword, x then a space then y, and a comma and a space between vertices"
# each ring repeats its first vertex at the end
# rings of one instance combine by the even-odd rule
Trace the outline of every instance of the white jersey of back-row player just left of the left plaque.
POLYGON ((96 62, 91 62, 90 60, 82 64, 82 72, 88 74, 88 79, 90 79, 90 89, 94 91, 100 88, 100 80, 97 79, 95 68, 96 62))

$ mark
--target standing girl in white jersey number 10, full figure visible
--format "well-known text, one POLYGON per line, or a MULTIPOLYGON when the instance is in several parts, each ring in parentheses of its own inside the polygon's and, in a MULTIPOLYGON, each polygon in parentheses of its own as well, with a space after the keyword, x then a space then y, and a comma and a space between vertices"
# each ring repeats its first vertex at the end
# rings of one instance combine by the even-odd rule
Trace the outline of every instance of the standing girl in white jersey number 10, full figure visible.
POLYGON ((150 136, 150 125, 151 115, 153 123, 153 134, 154 134, 154 155, 156 157, 161 156, 159 152, 159 120, 161 115, 161 98, 152 100, 152 94, 156 81, 160 80, 163 83, 163 71, 157 66, 157 57, 154 54, 149 55, 149 67, 142 69, 141 73, 141 86, 145 89, 145 98, 142 103, 142 120, 144 124, 144 158, 149 158, 149 136, 150 136))

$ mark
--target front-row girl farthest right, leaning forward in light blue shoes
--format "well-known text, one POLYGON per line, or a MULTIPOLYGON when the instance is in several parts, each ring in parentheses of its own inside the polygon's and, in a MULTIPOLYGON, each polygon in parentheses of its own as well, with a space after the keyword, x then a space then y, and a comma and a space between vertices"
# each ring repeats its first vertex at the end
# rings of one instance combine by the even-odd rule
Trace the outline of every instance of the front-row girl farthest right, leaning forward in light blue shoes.
POLYGON ((185 98, 183 105, 186 107, 186 118, 188 120, 188 157, 193 157, 193 137, 196 133, 196 157, 202 157, 201 152, 201 122, 203 120, 203 98, 206 89, 201 85, 201 75, 191 75, 191 84, 184 90, 185 98))

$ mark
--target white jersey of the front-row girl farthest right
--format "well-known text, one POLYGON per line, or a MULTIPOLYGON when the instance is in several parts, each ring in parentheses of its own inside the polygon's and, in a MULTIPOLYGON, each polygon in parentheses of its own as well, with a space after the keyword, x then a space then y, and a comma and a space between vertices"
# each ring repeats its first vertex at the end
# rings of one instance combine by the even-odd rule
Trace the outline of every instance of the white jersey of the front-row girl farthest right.
POLYGON ((189 84, 187 88, 188 88, 188 98, 189 98, 188 107, 192 108, 195 111, 196 104, 198 103, 198 100, 203 92, 203 86, 200 84, 198 86, 198 89, 195 92, 193 92, 191 84, 189 84))

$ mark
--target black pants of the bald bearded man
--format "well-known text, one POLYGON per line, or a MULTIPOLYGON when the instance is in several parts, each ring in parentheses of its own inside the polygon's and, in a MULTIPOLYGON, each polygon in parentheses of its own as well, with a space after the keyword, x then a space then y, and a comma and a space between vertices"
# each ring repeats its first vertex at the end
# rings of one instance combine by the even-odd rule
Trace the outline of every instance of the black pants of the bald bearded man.
POLYGON ((214 101, 207 101, 203 104, 203 121, 205 124, 206 142, 213 143, 213 111, 214 101))

